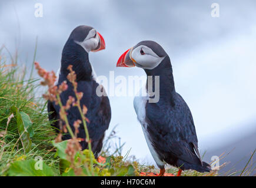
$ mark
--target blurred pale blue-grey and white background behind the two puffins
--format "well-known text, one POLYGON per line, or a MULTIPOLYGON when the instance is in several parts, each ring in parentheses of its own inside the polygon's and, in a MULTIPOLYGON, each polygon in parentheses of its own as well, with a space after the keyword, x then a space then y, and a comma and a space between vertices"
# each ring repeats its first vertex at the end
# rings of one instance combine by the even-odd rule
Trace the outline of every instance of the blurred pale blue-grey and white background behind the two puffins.
MULTIPOLYGON (((119 56, 139 41, 158 42, 171 59, 176 90, 191 109, 200 151, 212 151, 256 133, 255 7, 254 0, 1 1, 0 42, 11 52, 18 49, 19 62, 31 67, 38 36, 36 61, 56 71, 72 29, 90 25, 106 42, 105 51, 89 55, 97 75, 114 71, 126 78, 145 73, 116 68, 119 56), (34 15, 36 3, 43 5, 42 18, 34 15), (212 3, 220 5, 219 18, 211 16, 212 3)), ((132 101, 110 97, 109 129, 118 125, 124 153, 131 148, 131 155, 152 162, 132 101)), ((255 142, 248 145, 255 148, 255 142)))

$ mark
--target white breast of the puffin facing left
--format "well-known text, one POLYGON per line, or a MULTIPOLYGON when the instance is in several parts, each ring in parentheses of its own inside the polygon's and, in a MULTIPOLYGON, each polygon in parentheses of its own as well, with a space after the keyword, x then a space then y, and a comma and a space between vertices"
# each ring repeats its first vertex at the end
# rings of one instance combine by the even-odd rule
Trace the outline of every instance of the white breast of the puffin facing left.
POLYGON ((149 135, 147 132, 147 122, 146 122, 146 103, 147 100, 149 99, 149 96, 141 96, 141 93, 147 93, 146 91, 146 86, 143 86, 141 90, 139 91, 139 96, 135 96, 134 98, 134 109, 135 112, 137 113, 137 118, 139 120, 139 123, 141 123, 141 127, 145 136, 145 139, 147 141, 148 148, 150 150, 150 153, 152 157, 155 160, 155 163, 157 163, 158 167, 159 166, 164 166, 164 162, 162 162, 159 157, 157 152, 155 152, 154 147, 152 146, 151 140, 149 139, 149 135))

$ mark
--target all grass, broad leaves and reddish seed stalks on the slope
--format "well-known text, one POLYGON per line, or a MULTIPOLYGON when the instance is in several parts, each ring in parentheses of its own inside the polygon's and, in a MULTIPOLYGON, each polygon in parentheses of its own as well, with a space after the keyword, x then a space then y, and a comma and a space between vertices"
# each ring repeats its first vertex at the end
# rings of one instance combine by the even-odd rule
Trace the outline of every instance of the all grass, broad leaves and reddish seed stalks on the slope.
MULTIPOLYGON (((75 90, 76 98, 70 99, 69 106, 63 106, 59 94, 65 90, 65 83, 56 88, 54 73, 46 72, 35 64, 39 75, 44 78, 42 84, 48 86, 44 98, 61 106, 61 119, 65 122, 62 130, 72 135, 72 139, 62 141, 61 134, 57 135, 48 120, 46 100, 41 96, 36 98, 36 93, 42 89, 38 83, 41 79, 33 79, 32 73, 27 78, 26 68, 18 67, 17 58, 6 58, 2 52, 0 54, 0 176, 155 176, 158 173, 154 166, 142 165, 129 158, 129 152, 121 156, 121 143, 111 148, 114 146, 109 145, 109 140, 116 137, 114 130, 104 142, 101 153, 104 162, 94 158, 90 146, 88 150, 81 151, 76 133, 70 132, 65 110, 70 105, 77 106, 83 120, 77 121, 75 127, 84 126, 87 131, 87 108, 79 105, 82 93, 75 90)), ((69 70, 69 80, 75 89, 75 73, 72 67, 69 70)), ((88 136, 87 132, 89 143, 88 136)), ((178 169, 171 167, 167 172, 176 174, 178 169)), ((182 175, 216 176, 217 171, 198 173, 188 170, 182 175)))

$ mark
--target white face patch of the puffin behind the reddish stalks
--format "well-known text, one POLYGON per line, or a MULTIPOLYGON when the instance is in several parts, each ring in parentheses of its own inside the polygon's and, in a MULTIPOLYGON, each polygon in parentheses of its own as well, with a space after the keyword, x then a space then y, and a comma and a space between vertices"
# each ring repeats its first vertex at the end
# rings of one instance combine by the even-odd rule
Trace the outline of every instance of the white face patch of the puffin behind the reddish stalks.
POLYGON ((84 48, 85 51, 89 53, 89 51, 93 51, 95 48, 97 48, 99 43, 99 36, 95 29, 91 29, 84 41, 75 41, 75 43, 82 46, 82 48, 84 48))

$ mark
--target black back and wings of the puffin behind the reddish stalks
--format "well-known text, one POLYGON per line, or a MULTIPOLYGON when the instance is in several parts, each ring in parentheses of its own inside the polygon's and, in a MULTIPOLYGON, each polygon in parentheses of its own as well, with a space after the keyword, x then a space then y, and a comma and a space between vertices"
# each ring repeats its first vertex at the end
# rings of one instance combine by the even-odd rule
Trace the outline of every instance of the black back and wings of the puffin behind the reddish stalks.
MULTIPOLYGON (((92 151, 98 153, 102 147, 102 140, 104 139, 104 133, 108 129, 109 122, 111 119, 111 108, 109 105, 109 100, 107 95, 98 96, 96 94, 96 89, 98 83, 95 80, 90 81, 79 81, 78 82, 78 92, 84 93, 80 103, 81 107, 85 105, 88 109, 87 114, 85 115, 89 122, 87 122, 87 127, 89 131, 89 136, 92 143, 92 151)), ((102 91, 104 88, 102 87, 102 91)), ((75 94, 72 88, 71 83, 68 83, 68 89, 61 93, 62 104, 65 105, 68 97, 72 96, 75 98, 75 94)), ((58 105, 53 104, 54 108, 58 108, 58 105)), ((75 120, 82 119, 77 107, 71 107, 67 111, 68 113, 68 122, 74 131, 74 122, 75 120)), ((85 130, 84 126, 81 124, 79 127, 78 137, 85 139, 85 130)), ((70 135, 64 136, 64 139, 69 139, 70 135)), ((81 142, 82 149, 87 148, 86 142, 81 142)), ((97 156, 97 155, 95 155, 97 156)))

